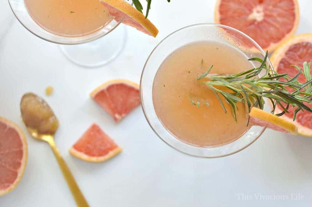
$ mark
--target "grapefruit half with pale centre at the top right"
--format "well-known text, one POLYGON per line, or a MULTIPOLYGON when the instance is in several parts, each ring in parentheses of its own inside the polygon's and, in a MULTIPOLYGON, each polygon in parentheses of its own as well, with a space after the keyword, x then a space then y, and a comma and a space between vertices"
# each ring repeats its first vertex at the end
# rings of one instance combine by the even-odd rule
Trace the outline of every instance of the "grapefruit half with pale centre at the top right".
POLYGON ((271 52, 299 22, 297 0, 217 0, 215 22, 236 28, 271 52))

